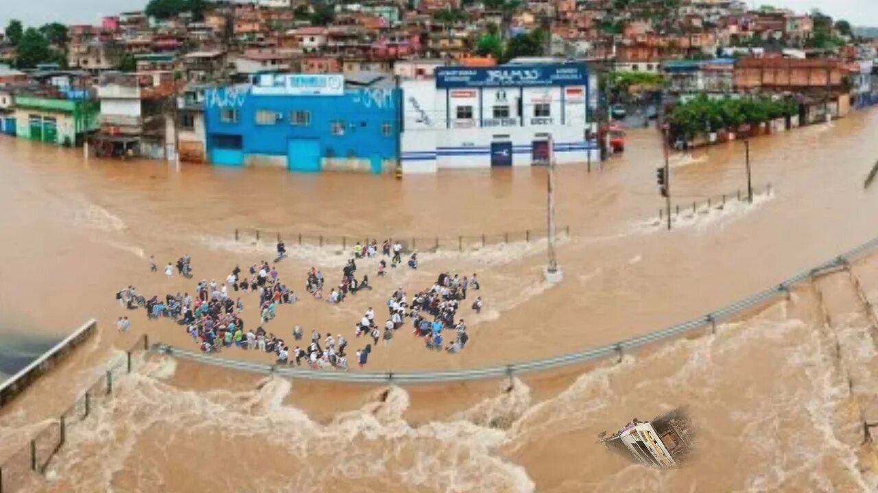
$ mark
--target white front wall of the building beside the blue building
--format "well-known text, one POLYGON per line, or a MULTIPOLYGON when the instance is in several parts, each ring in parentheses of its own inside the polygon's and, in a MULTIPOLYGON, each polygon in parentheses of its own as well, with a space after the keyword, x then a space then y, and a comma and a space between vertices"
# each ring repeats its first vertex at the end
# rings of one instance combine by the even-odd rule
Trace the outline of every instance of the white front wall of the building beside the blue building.
POLYGON ((585 87, 445 90, 430 80, 406 81, 402 87, 404 173, 488 168, 493 142, 512 142, 513 166, 530 166, 533 142, 545 139, 554 142, 558 164, 587 162, 589 152, 592 161, 600 161, 596 144, 585 140, 585 87), (535 104, 549 104, 551 116, 536 118, 535 104), (510 118, 493 118, 496 105, 508 105, 510 118), (471 106, 473 118, 457 119, 459 106, 471 106))

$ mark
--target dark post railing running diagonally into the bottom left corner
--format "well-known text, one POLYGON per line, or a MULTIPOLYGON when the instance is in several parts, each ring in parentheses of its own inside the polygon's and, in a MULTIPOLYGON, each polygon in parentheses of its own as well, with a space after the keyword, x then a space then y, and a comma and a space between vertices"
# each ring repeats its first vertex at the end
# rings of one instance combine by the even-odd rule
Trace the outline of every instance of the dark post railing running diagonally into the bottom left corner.
MULTIPOLYGON (((92 324, 94 321, 91 322, 92 324)), ((132 372, 134 355, 149 349, 148 336, 144 335, 128 351, 125 358, 115 361, 104 373, 91 383, 80 397, 61 415, 30 439, 24 447, 11 456, 0 458, 0 493, 24 490, 44 475, 56 454, 67 441, 71 427, 85 425, 94 405, 112 395, 113 382, 132 372)))

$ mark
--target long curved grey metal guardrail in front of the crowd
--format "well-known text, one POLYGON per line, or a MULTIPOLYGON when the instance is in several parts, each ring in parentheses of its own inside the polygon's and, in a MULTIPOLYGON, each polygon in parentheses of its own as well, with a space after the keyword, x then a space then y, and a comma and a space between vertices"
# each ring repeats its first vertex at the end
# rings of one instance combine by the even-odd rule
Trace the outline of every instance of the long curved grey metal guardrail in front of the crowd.
POLYGON ((655 342, 666 339, 673 339, 680 334, 691 332, 704 327, 711 327, 716 331, 716 323, 724 319, 739 315, 744 311, 750 310, 759 304, 765 304, 779 296, 788 296, 790 289, 796 284, 810 280, 815 275, 821 275, 827 271, 836 268, 842 268, 847 263, 855 260, 863 254, 870 253, 878 248, 878 238, 872 239, 860 247, 856 247, 846 254, 839 255, 831 261, 826 261, 815 268, 810 268, 802 273, 788 278, 786 281, 774 285, 774 287, 765 289, 740 300, 736 303, 729 304, 719 310, 711 311, 706 315, 693 318, 678 325, 673 325, 666 329, 656 332, 649 332, 632 339, 626 339, 601 347, 593 347, 584 351, 571 354, 561 354, 551 358, 545 358, 536 361, 522 361, 518 363, 510 363, 505 366, 494 366, 488 368, 475 368, 463 370, 449 371, 420 371, 420 372, 341 372, 331 370, 311 370, 279 367, 277 365, 266 365, 253 363, 249 361, 238 361, 227 358, 219 358, 207 354, 200 354, 186 349, 171 347, 164 344, 155 344, 152 350, 160 354, 169 354, 175 357, 184 358, 191 361, 198 361, 206 364, 216 365, 224 368, 232 368, 243 371, 250 371, 262 374, 275 374, 289 376, 293 378, 303 378, 315 381, 330 382, 361 382, 361 383, 437 383, 437 382, 457 382, 463 380, 479 380, 486 378, 502 378, 510 377, 515 374, 558 368, 566 365, 579 364, 588 361, 597 361, 611 356, 616 356, 620 361, 626 350, 637 349, 655 342))

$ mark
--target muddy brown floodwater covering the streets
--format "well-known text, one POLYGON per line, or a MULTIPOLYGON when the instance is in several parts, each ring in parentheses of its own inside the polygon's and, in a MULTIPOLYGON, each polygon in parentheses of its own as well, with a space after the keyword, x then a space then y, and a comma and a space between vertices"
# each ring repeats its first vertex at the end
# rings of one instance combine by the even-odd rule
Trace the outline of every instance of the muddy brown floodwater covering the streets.
MULTIPOLYGON (((441 271, 478 272, 482 283, 485 310, 461 311, 471 332, 464 353, 427 352, 399 333, 390 347, 377 348, 367 369, 523 361, 700 316, 878 236, 870 213, 878 195, 862 186, 878 154, 876 125, 878 113, 863 112, 754 139, 753 204, 730 200, 723 210, 684 211, 672 232, 657 224, 658 136, 633 131, 629 151, 602 170, 558 169, 558 223, 571 231, 558 248, 565 272, 558 286, 542 281, 544 241, 424 253, 418 271, 371 275, 375 289, 340 306, 309 297, 282 306, 267 329, 287 337, 292 325, 342 333, 356 348, 353 325, 366 308, 380 313, 398 286, 414 293, 441 271)), ((0 414, 7 444, 25 441, 68 405, 61 397, 83 391, 78 382, 140 334, 191 348, 179 326, 124 313, 114 293, 129 284, 150 296, 191 291, 200 279, 221 282, 235 264, 270 259, 273 243, 235 242, 235 228, 382 239, 544 224, 540 168, 399 182, 84 161, 79 152, 18 139, 0 139, 0 156, 4 337, 56 338, 86 318, 103 322, 68 370, 0 414), (195 280, 148 272, 149 255, 162 264, 183 254, 192 256, 195 280), (120 335, 112 321, 123 314, 133 316, 133 331, 120 335)), ((742 143, 672 158, 671 189, 684 210, 708 196, 735 195, 745 183, 742 143)), ((348 255, 287 244, 291 256, 278 270, 293 289, 304 288, 311 266, 337 282, 348 255)), ((358 266, 372 273, 375 263, 358 266)), ((878 300, 878 261, 854 269, 867 297, 878 300)), ((860 447, 858 413, 878 418, 868 404, 878 361, 868 318, 845 282, 840 274, 818 281, 824 303, 813 287, 802 287, 791 301, 723 325, 716 336, 653 347, 618 365, 529 375, 510 391, 507 382, 457 383, 392 388, 379 398, 382 389, 327 390, 153 356, 117 383, 92 425, 71 429, 47 480, 32 489, 873 490, 878 482, 869 449, 860 447), (831 325, 819 316, 823 308, 831 325), (594 444, 598 432, 681 404, 701 428, 699 453, 686 468, 630 466, 594 444)), ((255 326, 255 300, 242 299, 248 326, 255 326)), ((234 349, 222 355, 268 361, 234 349)))

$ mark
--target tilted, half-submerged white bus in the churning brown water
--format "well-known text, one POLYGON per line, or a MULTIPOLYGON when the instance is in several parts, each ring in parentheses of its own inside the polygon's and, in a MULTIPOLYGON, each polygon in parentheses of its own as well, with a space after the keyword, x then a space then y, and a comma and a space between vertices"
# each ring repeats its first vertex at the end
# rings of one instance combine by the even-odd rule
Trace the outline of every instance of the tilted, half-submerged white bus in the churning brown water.
POLYGON ((623 429, 607 437, 601 433, 598 443, 635 464, 651 468, 680 467, 692 449, 693 425, 686 411, 675 409, 652 419, 634 418, 623 429))

